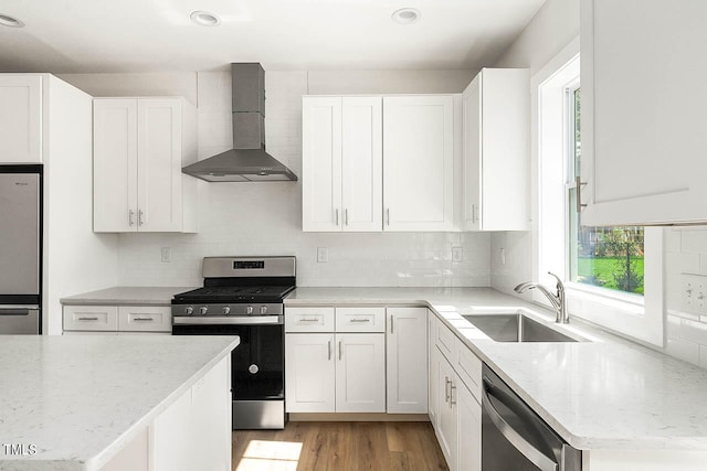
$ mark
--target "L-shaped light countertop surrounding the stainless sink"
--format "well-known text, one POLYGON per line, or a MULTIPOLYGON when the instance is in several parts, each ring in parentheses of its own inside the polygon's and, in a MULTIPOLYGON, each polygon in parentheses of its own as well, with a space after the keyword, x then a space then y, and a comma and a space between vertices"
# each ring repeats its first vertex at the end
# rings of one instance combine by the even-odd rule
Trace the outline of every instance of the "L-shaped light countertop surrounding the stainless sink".
POLYGON ((285 304, 428 306, 574 448, 707 450, 707 371, 577 319, 553 324, 550 311, 516 297, 489 288, 297 288, 285 304), (463 318, 508 309, 591 341, 500 343, 463 318))

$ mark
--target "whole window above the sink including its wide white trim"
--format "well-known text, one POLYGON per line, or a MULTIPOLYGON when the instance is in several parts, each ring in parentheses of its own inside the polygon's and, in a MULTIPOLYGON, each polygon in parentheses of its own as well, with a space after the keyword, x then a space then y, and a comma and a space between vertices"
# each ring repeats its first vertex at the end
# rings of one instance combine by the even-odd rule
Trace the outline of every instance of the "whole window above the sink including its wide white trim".
POLYGON ((580 88, 579 38, 532 76, 531 93, 534 280, 553 286, 548 271, 564 280, 570 318, 662 346, 663 229, 582 227, 577 213, 579 116, 592 114, 591 93, 580 88))

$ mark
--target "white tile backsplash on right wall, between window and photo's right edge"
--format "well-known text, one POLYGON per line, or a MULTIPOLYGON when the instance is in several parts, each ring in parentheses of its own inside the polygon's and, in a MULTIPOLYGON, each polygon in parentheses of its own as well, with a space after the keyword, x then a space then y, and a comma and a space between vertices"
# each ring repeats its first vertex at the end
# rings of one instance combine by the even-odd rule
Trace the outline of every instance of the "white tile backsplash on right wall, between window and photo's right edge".
POLYGON ((665 352, 707 368, 707 317, 683 310, 683 274, 707 281, 707 227, 665 229, 665 352))

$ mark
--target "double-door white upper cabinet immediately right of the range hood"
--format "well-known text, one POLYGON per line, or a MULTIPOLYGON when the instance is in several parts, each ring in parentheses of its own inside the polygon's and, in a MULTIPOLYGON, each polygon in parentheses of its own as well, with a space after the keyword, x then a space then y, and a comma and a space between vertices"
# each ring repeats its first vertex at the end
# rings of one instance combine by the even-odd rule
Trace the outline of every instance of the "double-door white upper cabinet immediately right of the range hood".
POLYGON ((381 97, 303 97, 303 231, 381 231, 381 97))

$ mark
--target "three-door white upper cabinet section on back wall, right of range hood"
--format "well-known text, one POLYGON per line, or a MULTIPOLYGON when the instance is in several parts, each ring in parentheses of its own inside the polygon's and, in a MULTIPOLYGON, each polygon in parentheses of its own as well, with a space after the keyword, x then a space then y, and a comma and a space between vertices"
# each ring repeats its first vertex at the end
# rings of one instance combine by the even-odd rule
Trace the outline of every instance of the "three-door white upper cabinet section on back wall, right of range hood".
POLYGON ((454 97, 303 98, 303 231, 454 229, 454 97))

